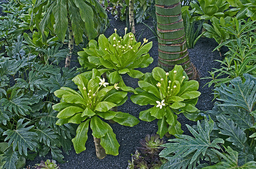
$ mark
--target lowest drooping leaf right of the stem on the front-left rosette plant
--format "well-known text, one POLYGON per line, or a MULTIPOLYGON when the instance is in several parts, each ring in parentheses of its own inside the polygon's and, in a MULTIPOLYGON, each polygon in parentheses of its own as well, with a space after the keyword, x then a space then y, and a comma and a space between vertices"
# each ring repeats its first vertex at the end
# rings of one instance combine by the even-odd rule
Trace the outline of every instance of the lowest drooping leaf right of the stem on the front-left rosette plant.
POLYGON ((100 145, 105 149, 106 154, 118 155, 118 149, 120 144, 116 139, 116 134, 114 134, 113 129, 106 123, 108 132, 104 137, 100 138, 100 145))

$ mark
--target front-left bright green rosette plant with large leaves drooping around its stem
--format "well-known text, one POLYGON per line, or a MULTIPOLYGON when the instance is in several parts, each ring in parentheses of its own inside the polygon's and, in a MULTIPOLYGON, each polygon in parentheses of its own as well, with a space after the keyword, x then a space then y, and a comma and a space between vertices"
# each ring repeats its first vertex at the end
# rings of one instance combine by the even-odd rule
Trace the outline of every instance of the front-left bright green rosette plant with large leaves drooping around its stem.
POLYGON ((128 113, 110 110, 114 106, 125 103, 127 92, 121 91, 122 87, 118 87, 117 83, 114 86, 108 86, 109 83, 96 74, 98 75, 99 72, 94 69, 91 79, 87 79, 84 74, 79 74, 72 79, 78 86, 78 92, 68 87, 61 87, 55 91, 54 94, 61 98, 62 102, 53 105, 53 109, 59 111, 58 125, 79 124, 76 136, 72 139, 76 153, 86 150, 88 127, 91 127, 97 157, 104 158, 106 154, 118 155, 120 145, 112 128, 101 118, 112 119, 114 122, 130 127, 138 124, 139 120, 128 113))

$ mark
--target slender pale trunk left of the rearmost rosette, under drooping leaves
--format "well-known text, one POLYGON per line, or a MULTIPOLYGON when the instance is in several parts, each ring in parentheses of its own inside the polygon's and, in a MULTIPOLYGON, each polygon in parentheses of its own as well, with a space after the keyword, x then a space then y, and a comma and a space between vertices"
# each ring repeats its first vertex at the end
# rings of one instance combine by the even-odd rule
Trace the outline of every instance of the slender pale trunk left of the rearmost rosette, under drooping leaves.
POLYGON ((70 20, 68 5, 67 5, 67 22, 68 22, 68 26, 69 26, 69 53, 66 56, 65 68, 70 67, 70 61, 71 61, 72 52, 74 49, 74 33, 72 30, 72 24, 71 24, 71 20, 70 20))

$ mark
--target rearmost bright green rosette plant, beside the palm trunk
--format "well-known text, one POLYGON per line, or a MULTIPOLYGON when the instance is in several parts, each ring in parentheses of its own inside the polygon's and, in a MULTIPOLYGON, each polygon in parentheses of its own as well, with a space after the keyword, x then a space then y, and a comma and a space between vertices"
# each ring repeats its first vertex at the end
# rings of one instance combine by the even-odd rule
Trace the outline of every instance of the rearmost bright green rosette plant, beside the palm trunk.
POLYGON ((104 34, 99 36, 98 42, 91 40, 84 51, 78 52, 79 63, 86 69, 107 69, 106 75, 111 84, 120 82, 123 85, 122 74, 127 73, 130 77, 141 78, 143 73, 135 68, 146 68, 153 62, 148 51, 152 47, 152 42, 146 38, 143 43, 136 42, 133 33, 127 33, 120 37, 116 33, 106 38, 104 34))

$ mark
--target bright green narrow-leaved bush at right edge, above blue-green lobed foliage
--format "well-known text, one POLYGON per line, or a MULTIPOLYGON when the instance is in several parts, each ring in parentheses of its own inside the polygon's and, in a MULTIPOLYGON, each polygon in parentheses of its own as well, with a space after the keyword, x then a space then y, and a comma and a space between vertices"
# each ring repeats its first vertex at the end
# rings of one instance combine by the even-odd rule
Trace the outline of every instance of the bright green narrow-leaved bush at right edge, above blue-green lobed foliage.
MULTIPOLYGON (((223 24, 224 19, 220 19, 221 34, 229 34, 229 39, 225 39, 223 43, 215 48, 227 46, 229 51, 225 54, 226 57, 223 61, 217 60, 221 63, 220 69, 215 69, 211 72, 212 81, 208 83, 211 86, 220 86, 221 83, 228 83, 231 79, 242 77, 244 73, 254 74, 256 70, 255 64, 255 40, 256 34, 252 31, 256 28, 255 21, 237 20, 235 17, 229 22, 228 27, 223 24), (225 75, 224 78, 219 78, 225 75)), ((212 29, 208 27, 208 29, 212 29)), ((206 33, 207 34, 207 33, 206 33)), ((214 34, 212 34, 214 35, 214 34)), ((215 35, 214 35, 215 36, 215 35)), ((221 40, 222 41, 222 40, 221 40)))

